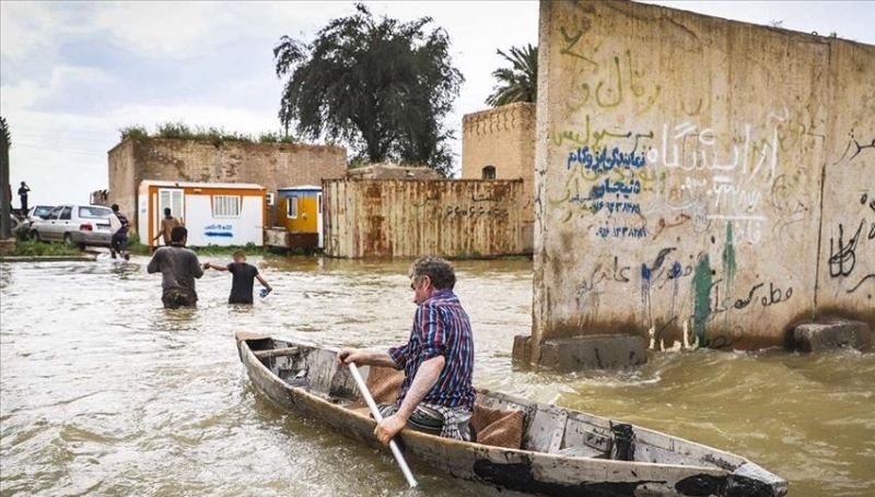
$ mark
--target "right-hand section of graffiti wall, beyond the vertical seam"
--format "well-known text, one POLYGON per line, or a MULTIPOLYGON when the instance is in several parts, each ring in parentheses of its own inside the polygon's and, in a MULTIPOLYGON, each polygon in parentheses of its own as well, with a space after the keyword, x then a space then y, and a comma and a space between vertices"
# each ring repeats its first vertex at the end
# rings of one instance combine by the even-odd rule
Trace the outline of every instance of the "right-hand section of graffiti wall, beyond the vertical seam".
POLYGON ((875 330, 875 47, 835 40, 829 57, 816 310, 875 330))

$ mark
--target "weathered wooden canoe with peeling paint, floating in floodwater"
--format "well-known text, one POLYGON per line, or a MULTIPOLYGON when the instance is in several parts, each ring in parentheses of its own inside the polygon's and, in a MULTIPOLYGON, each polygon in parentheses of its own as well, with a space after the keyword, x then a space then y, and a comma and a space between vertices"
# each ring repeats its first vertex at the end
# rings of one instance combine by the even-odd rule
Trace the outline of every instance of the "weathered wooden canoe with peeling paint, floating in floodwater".
MULTIPOLYGON (((382 447, 352 376, 336 362, 337 351, 248 332, 236 333, 236 342, 250 380, 275 403, 382 447)), ((372 379, 382 369, 359 368, 372 379)), ((788 492, 786 481, 742 457, 580 411, 478 390, 474 417, 480 419, 480 426, 474 423, 478 442, 402 430, 406 458, 463 480, 545 496, 777 497, 788 492), (489 419, 504 419, 504 426, 492 430, 501 423, 487 425, 489 419), (492 431, 504 433, 494 438, 503 447, 489 445, 492 431)))

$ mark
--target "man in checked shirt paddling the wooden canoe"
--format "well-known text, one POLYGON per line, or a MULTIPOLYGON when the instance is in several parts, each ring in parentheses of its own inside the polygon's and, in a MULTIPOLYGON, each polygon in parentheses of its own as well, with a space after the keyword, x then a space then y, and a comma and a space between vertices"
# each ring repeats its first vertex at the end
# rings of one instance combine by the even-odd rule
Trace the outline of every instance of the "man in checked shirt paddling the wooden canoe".
POLYGON ((395 403, 378 406, 383 421, 374 435, 381 442, 388 445, 404 427, 471 440, 474 340, 468 313, 453 293, 455 271, 444 259, 423 257, 409 276, 417 310, 407 344, 388 351, 343 348, 338 362, 404 369, 395 403))

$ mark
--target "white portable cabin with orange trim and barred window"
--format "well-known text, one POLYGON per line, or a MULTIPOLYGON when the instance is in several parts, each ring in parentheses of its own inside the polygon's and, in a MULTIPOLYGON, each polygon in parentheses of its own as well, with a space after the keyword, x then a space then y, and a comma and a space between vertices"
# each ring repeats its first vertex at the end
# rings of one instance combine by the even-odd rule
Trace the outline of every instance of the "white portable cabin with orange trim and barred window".
POLYGON ((152 239, 161 229, 164 208, 188 228, 194 247, 264 246, 267 220, 266 189, 253 184, 184 182, 143 180, 137 201, 140 241, 163 245, 152 239))

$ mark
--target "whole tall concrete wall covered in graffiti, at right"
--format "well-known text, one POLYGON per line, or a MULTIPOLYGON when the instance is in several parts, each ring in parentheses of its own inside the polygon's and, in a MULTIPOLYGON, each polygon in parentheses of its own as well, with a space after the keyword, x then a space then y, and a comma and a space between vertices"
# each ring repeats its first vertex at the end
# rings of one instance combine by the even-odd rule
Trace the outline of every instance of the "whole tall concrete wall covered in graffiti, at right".
POLYGON ((541 1, 539 36, 533 362, 875 327, 875 47, 628 1, 541 1))

